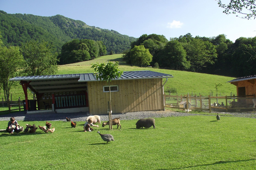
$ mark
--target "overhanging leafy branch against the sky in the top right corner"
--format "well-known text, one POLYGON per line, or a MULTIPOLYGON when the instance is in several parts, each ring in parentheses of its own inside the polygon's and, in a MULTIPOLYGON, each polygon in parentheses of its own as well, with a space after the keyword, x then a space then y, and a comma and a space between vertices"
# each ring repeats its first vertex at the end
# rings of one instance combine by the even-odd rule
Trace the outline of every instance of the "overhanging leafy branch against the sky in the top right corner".
MULTIPOLYGON (((255 0, 230 0, 228 5, 218 0, 219 7, 224 8, 225 14, 241 14, 241 18, 255 19, 256 17, 256 1, 255 0)), ((239 15, 236 15, 239 17, 239 15)))

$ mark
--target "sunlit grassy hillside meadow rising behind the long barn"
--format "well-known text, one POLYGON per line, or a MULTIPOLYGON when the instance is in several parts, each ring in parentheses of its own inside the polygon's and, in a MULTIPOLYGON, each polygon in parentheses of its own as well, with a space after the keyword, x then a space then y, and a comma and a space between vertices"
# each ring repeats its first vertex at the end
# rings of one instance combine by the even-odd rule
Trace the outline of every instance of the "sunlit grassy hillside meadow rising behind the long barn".
MULTIPOLYGON (((103 62, 119 62, 119 69, 122 71, 140 71, 140 70, 151 70, 165 74, 171 74, 174 78, 169 78, 166 82, 164 88, 176 88, 178 95, 192 94, 193 95, 203 95, 208 96, 211 91, 214 91, 214 96, 216 96, 215 84, 221 83, 222 86, 218 89, 218 96, 230 96, 230 94, 236 94, 236 86, 227 83, 234 79, 233 77, 224 77, 211 74, 202 74, 189 71, 176 71, 176 70, 166 70, 157 68, 141 68, 137 66, 131 67, 122 61, 122 54, 114 54, 108 56, 102 56, 90 61, 77 62, 68 65, 60 65, 58 69, 58 74, 80 74, 80 73, 93 73, 93 68, 91 68, 91 63, 103 63, 103 62)), ((165 82, 166 79, 163 79, 165 82)), ((3 92, 3 91, 2 91, 3 92)), ((24 99, 24 94, 21 85, 18 83, 12 88, 12 99, 17 100, 19 97, 21 100, 24 99)), ((29 97, 32 98, 32 94, 28 93, 29 97)), ((3 93, 0 95, 3 97, 3 93)))

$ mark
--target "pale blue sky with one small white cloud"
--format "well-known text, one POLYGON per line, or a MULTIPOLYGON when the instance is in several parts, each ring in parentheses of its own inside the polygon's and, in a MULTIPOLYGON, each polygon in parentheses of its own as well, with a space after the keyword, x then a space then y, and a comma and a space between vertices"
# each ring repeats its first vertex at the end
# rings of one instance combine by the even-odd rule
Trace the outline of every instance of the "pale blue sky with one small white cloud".
POLYGON ((143 34, 160 34, 168 40, 187 33, 193 37, 225 34, 235 42, 239 37, 256 36, 256 20, 226 15, 216 0, 0 0, 0 10, 45 17, 60 14, 136 38, 143 34))

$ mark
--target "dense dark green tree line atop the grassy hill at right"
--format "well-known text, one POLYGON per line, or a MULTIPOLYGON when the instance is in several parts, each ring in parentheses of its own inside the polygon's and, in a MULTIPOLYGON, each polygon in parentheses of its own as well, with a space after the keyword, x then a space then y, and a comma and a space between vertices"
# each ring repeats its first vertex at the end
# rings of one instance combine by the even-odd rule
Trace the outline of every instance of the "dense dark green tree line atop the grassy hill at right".
POLYGON ((243 77, 256 73, 256 37, 240 37, 236 42, 224 34, 217 37, 192 37, 186 34, 167 40, 163 35, 144 34, 131 43, 123 59, 131 65, 143 66, 135 60, 142 45, 152 55, 150 64, 160 68, 194 71, 224 76, 243 77), (136 52, 137 51, 137 52, 136 52))

